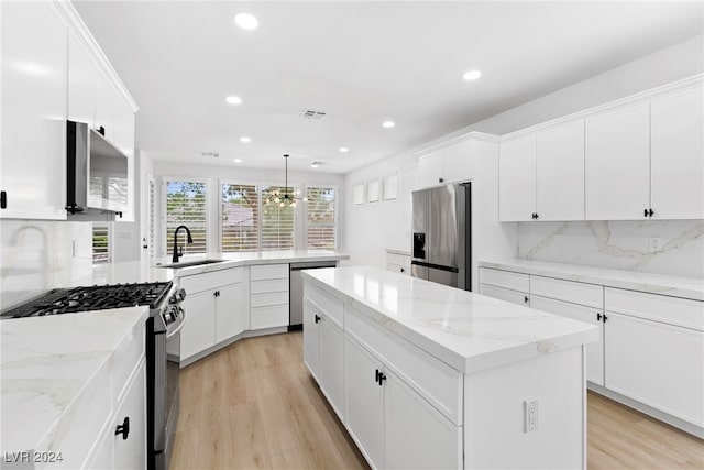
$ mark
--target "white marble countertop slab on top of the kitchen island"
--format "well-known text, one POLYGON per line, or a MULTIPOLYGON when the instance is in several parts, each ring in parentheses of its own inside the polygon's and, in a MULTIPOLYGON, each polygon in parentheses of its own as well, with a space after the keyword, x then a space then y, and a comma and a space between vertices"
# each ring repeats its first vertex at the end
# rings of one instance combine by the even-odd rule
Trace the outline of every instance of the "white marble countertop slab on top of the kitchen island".
POLYGON ((304 273, 345 305, 473 373, 596 341, 595 326, 373 266, 304 273))

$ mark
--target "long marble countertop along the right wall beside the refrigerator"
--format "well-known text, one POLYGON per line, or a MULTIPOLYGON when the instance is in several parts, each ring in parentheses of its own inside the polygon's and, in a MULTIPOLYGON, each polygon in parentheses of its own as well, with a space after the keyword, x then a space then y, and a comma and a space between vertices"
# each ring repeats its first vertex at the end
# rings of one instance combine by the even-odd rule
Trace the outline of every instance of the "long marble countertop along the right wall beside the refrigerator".
POLYGON ((495 267, 525 274, 600 284, 607 287, 648 292, 672 297, 704 300, 704 280, 638 271, 612 270, 578 264, 551 263, 521 259, 480 261, 480 266, 495 267))

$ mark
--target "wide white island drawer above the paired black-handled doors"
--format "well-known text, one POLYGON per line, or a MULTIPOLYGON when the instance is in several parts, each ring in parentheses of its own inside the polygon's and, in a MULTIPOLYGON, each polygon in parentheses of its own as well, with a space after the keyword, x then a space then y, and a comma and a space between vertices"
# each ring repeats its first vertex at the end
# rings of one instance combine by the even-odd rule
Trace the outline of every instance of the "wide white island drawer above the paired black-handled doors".
POLYGON ((404 382, 455 425, 462 425, 462 374, 386 330, 354 308, 345 307, 345 331, 370 349, 404 382))

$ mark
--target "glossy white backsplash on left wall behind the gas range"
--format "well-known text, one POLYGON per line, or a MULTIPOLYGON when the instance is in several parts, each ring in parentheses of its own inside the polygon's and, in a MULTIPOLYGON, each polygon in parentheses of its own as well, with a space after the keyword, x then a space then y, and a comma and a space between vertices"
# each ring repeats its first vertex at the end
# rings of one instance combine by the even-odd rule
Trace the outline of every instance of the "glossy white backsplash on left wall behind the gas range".
POLYGON ((92 223, 0 221, 0 309, 92 270, 92 223))

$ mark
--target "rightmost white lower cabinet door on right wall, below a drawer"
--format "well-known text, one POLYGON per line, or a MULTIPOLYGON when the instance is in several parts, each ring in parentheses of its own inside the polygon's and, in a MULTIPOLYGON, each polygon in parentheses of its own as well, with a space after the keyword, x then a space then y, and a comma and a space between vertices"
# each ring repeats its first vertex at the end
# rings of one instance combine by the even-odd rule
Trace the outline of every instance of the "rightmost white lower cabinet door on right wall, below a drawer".
POLYGON ((606 315, 606 387, 704 426, 704 332, 606 315))

